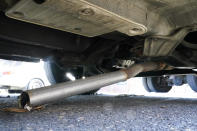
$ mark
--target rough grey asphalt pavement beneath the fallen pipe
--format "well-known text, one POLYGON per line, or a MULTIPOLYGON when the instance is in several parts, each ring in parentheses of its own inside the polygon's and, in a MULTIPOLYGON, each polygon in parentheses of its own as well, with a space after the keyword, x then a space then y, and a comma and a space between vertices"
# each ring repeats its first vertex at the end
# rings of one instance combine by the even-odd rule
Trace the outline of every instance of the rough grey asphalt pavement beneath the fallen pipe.
MULTIPOLYGON (((0 109, 17 107, 0 98, 0 109)), ((0 111, 1 131, 196 131, 197 99, 77 96, 41 110, 0 111)))

